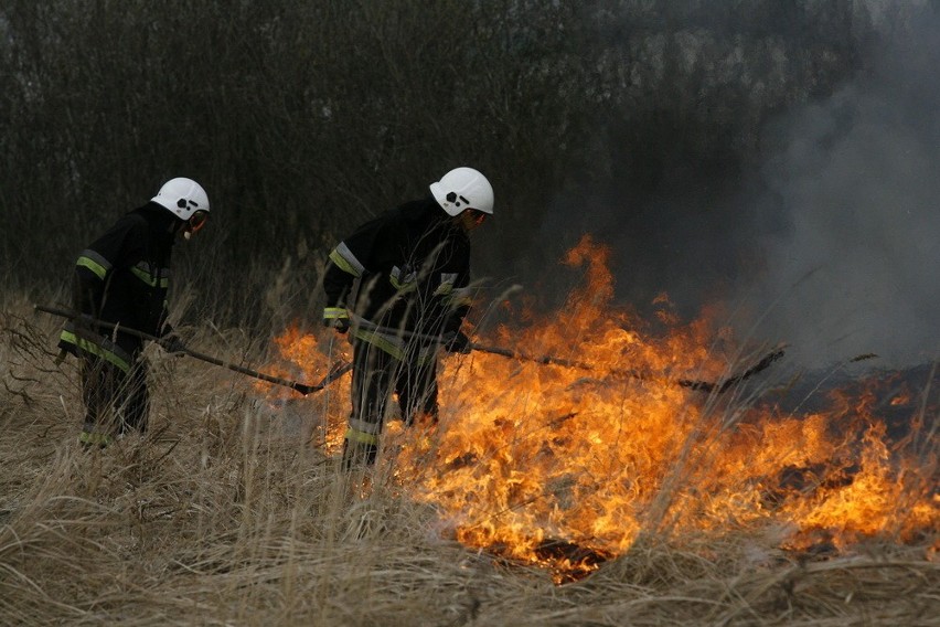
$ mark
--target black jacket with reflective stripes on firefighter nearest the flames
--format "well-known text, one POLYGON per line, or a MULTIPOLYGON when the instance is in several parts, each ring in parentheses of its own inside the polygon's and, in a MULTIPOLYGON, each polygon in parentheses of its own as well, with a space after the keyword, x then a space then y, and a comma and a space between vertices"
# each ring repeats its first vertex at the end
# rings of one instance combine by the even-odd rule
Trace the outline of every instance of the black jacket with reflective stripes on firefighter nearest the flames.
POLYGON ((467 233, 428 196, 360 226, 330 253, 324 318, 349 310, 382 328, 439 337, 460 328, 469 283, 467 233))

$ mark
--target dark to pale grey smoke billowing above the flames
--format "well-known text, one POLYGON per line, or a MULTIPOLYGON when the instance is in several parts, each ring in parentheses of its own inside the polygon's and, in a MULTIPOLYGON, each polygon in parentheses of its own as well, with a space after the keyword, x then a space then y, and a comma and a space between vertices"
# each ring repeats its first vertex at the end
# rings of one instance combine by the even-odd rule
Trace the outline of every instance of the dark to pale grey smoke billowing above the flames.
POLYGON ((717 322, 788 343, 801 368, 940 358, 940 1, 863 4, 875 32, 852 44, 862 70, 760 127, 754 162, 715 171, 684 157, 651 193, 607 141, 615 180, 558 198, 513 280, 557 306, 576 277, 556 262, 590 233, 611 247, 618 304, 647 319, 665 293, 685 319, 725 304, 717 322))

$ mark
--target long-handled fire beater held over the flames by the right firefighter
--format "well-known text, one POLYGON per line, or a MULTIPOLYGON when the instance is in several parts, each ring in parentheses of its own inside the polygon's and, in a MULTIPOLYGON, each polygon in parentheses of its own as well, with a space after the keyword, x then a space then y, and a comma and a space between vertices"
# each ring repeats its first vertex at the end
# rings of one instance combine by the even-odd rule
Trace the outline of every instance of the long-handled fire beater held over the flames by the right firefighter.
MULTIPOLYGON (((361 318, 359 316, 353 316, 353 322, 355 325, 359 325, 359 326, 365 328, 365 329, 368 329, 370 331, 397 334, 397 336, 400 336, 403 338, 413 338, 413 339, 426 340, 426 341, 439 342, 439 343, 447 343, 447 340, 448 340, 447 336, 441 336, 441 337, 428 336, 428 334, 415 333, 413 331, 406 331, 406 330, 402 330, 402 329, 392 329, 392 328, 387 328, 387 327, 381 327, 381 326, 375 325, 374 322, 371 322, 371 321, 368 321, 364 318, 361 318)), ((546 355, 532 355, 532 354, 527 354, 525 352, 521 352, 521 351, 516 351, 516 350, 512 350, 512 349, 504 349, 504 348, 500 348, 500 347, 490 347, 490 346, 480 344, 480 343, 477 343, 477 342, 470 342, 470 349, 474 350, 474 351, 479 351, 479 352, 498 354, 498 355, 510 358, 510 359, 520 359, 520 360, 523 360, 523 361, 531 361, 531 362, 534 362, 534 363, 541 363, 541 364, 546 364, 546 365, 560 365, 560 366, 564 366, 564 368, 577 368, 577 369, 581 369, 581 370, 597 370, 596 366, 594 366, 594 365, 591 365, 587 362, 584 362, 584 361, 564 359, 564 358, 553 357, 553 355, 547 355, 547 354, 546 355)), ((705 392, 705 393, 709 393, 709 394, 712 392, 716 392, 716 393, 720 394, 720 393, 727 391, 730 386, 733 386, 737 383, 740 383, 745 379, 748 379, 749 376, 752 376, 752 375, 757 374, 758 372, 761 372, 762 370, 768 369, 770 366, 770 364, 772 364, 775 361, 777 361, 778 359, 783 357, 783 353, 784 353, 784 347, 783 346, 775 347, 773 349, 768 351, 757 363, 755 363, 750 368, 748 368, 744 371, 737 372, 737 373, 735 373, 730 376, 727 376, 725 379, 722 379, 720 381, 704 381, 704 380, 698 380, 698 379, 670 379, 667 381, 670 383, 674 383, 675 385, 679 385, 681 387, 687 387, 690 390, 696 390, 696 391, 705 392)), ((630 370, 615 369, 615 370, 611 370, 609 373, 617 375, 617 376, 630 376, 632 379, 639 379, 641 381, 652 381, 652 380, 656 379, 655 376, 653 376, 651 374, 647 374, 647 373, 640 372, 638 370, 632 370, 632 369, 630 369, 630 370)))

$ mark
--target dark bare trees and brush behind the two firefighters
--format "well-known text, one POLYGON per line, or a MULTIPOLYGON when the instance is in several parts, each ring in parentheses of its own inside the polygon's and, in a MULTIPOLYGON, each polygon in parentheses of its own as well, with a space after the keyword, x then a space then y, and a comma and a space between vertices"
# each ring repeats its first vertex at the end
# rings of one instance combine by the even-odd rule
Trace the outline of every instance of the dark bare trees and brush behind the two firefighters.
POLYGON ((734 184, 768 119, 859 68, 863 9, 6 0, 7 294, 61 288, 89 237, 188 176, 215 214, 178 274, 263 322, 250 304, 287 259, 282 305, 307 305, 338 237, 459 164, 496 190, 479 272, 528 276, 559 198, 626 190, 635 213, 690 180, 734 184))

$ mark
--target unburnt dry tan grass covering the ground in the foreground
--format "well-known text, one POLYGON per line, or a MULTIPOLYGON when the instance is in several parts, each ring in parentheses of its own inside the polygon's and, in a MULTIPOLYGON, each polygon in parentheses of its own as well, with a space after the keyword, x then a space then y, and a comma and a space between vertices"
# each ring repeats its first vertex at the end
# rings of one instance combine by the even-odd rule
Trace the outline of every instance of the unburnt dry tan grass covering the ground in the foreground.
POLYGON ((317 416, 291 422, 249 380, 159 351, 151 432, 85 453, 74 361, 53 366, 56 321, 28 310, 3 314, 0 344, 2 624, 938 624, 923 546, 800 560, 773 530, 645 538, 556 586, 442 538, 395 478, 362 490, 302 437, 317 416))

